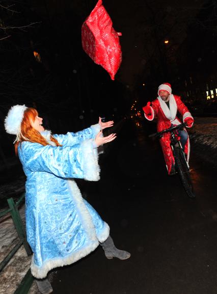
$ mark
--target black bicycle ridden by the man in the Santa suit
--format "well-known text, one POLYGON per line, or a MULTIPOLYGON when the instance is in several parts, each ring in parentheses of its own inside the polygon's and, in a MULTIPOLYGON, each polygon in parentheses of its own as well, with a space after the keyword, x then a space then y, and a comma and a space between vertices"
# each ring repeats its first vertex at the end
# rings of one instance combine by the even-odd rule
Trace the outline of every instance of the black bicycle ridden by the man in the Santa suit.
POLYGON ((185 153, 182 149, 181 142, 178 138, 176 130, 181 130, 185 127, 185 123, 170 127, 168 129, 153 133, 149 135, 149 137, 158 137, 159 139, 164 135, 166 132, 171 133, 171 147, 173 150, 173 156, 175 159, 175 169, 179 174, 181 182, 184 186, 184 190, 187 193, 189 198, 195 198, 195 192, 193 188, 193 183, 190 174, 190 167, 186 160, 185 153))

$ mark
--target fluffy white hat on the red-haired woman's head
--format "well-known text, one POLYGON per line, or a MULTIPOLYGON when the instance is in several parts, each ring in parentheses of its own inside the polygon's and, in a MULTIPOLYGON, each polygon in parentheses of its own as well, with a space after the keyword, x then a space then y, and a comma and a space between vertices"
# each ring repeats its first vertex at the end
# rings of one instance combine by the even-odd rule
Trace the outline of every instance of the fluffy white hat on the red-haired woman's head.
POLYGON ((7 133, 17 135, 20 131, 20 125, 23 119, 24 111, 27 107, 23 105, 14 105, 5 118, 5 129, 7 133))

